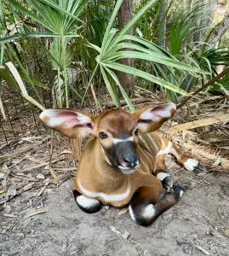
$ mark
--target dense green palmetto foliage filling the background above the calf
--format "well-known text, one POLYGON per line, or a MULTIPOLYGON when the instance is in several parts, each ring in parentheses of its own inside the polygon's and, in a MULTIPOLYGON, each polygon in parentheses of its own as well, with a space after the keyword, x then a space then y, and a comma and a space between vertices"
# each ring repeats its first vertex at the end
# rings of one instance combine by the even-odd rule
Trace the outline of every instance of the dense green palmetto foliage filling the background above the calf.
POLYGON ((4 9, 14 17, 12 21, 8 15, 6 26, 20 23, 16 32, 6 36, 2 22, 2 63, 3 56, 13 61, 39 100, 39 88, 46 85, 37 83, 36 75, 26 72, 25 59, 29 52, 31 58, 33 54, 49 55, 57 82, 46 88, 57 91, 60 108, 68 108, 74 97, 83 101, 90 87, 100 90, 106 85, 117 107, 121 92, 134 111, 117 79, 120 71, 135 76, 140 86, 148 90, 161 90, 167 100, 176 100, 192 91, 198 81, 203 83, 214 77, 216 66, 228 65, 228 51, 205 47, 205 5, 176 8, 177 2, 165 5, 166 2, 140 1, 133 18, 118 31, 117 12, 123 0, 117 0, 114 7, 108 0, 0 0, 0 7, 5 3, 4 9), (129 35, 133 26, 134 35, 129 35), (26 42, 35 40, 32 38, 42 40, 44 49, 34 47, 31 51, 26 42), (135 67, 121 64, 125 58, 134 59, 135 67), (71 68, 77 71, 77 79, 70 84, 67 70, 71 68))

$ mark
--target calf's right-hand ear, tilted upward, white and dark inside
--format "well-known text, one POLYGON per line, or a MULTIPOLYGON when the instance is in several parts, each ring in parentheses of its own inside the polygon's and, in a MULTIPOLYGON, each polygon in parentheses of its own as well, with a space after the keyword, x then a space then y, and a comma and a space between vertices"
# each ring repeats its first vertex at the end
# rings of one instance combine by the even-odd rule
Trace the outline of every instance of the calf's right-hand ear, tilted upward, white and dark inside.
POLYGON ((175 103, 165 103, 156 107, 147 107, 138 110, 135 115, 137 117, 137 127, 142 132, 157 131, 163 122, 170 119, 175 114, 175 103))

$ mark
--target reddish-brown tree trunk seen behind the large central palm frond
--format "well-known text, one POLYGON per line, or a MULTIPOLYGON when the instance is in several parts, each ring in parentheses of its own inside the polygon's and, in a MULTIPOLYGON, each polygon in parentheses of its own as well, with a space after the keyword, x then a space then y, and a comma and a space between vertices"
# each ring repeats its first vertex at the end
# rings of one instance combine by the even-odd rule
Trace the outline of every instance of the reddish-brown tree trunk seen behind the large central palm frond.
MULTIPOLYGON (((121 30, 131 19, 133 14, 133 0, 123 0, 123 3, 118 11, 117 23, 118 29, 121 30)), ((129 30, 129 34, 133 34, 133 28, 129 30)), ((127 49, 130 50, 130 49, 127 49)), ((121 60, 123 65, 133 67, 133 59, 123 59, 121 60)), ((134 96, 135 94, 135 79, 128 73, 119 72, 118 79, 123 89, 129 96, 134 96)))

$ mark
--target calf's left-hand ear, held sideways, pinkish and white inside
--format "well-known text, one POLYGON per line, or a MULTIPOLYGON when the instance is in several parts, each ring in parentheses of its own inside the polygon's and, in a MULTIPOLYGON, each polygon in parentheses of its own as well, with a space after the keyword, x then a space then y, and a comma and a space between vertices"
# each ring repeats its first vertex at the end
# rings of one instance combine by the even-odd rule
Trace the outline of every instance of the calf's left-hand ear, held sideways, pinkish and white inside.
POLYGON ((71 138, 89 136, 94 126, 93 117, 80 110, 46 109, 39 118, 45 125, 71 138))

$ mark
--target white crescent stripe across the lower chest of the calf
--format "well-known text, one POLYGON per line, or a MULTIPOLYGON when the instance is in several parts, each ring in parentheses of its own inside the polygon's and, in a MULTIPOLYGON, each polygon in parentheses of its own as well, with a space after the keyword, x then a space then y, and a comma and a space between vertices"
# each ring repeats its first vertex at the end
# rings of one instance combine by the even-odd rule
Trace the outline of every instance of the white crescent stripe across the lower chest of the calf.
POLYGON ((100 197, 106 202, 123 201, 124 199, 126 199, 129 196, 129 193, 130 193, 130 185, 129 185, 128 189, 123 194, 117 194, 117 195, 107 195, 107 194, 101 193, 101 192, 98 192, 98 193, 91 192, 88 189, 84 189, 83 186, 81 185, 81 183, 79 183, 79 182, 78 182, 78 186, 84 195, 91 197, 91 198, 100 197))

